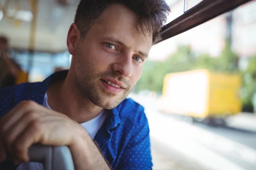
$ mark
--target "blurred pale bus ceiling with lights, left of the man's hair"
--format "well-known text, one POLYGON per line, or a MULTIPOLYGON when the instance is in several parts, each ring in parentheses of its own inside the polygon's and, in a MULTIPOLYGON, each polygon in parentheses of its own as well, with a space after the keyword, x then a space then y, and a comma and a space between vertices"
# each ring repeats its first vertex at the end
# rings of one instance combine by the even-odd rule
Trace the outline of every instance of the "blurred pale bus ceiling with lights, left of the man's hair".
POLYGON ((66 34, 79 0, 0 0, 0 34, 10 47, 66 51, 66 34), (1 17, 2 16, 2 17, 1 17))

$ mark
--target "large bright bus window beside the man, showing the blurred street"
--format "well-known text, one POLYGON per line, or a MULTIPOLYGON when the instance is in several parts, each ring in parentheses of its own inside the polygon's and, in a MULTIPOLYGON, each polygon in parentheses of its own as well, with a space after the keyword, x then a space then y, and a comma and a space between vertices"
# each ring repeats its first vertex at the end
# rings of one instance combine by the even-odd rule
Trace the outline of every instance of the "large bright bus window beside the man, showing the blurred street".
POLYGON ((255 7, 153 45, 131 97, 145 107, 154 170, 255 169, 255 7))

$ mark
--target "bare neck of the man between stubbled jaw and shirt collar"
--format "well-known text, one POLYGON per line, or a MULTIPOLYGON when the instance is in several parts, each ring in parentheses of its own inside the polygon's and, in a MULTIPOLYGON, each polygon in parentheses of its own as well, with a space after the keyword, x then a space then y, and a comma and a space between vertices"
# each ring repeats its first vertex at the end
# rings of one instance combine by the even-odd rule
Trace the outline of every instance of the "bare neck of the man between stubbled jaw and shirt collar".
POLYGON ((66 79, 49 85, 47 102, 52 110, 64 113, 76 122, 87 122, 98 116, 103 109, 82 95, 76 78, 70 71, 66 79))

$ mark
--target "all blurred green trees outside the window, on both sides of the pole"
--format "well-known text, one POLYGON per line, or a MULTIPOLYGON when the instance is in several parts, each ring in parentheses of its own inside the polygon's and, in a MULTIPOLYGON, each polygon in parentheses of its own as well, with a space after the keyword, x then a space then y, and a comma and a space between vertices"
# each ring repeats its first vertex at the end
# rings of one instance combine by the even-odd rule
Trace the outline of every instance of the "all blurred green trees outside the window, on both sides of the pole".
POLYGON ((180 46, 175 54, 163 62, 146 62, 134 91, 150 90, 161 93, 166 74, 206 68, 209 71, 241 74, 243 105, 250 106, 253 95, 256 94, 256 56, 249 59, 245 71, 239 70, 238 62, 239 57, 232 51, 229 40, 226 40, 223 51, 217 57, 211 57, 209 54, 200 54, 196 57, 189 46, 180 46))

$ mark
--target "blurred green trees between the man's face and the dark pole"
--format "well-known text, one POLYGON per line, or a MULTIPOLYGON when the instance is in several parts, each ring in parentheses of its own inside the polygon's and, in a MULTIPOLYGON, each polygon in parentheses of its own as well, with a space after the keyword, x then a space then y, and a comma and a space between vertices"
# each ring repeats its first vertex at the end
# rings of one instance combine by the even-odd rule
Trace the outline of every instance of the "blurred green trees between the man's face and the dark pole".
POLYGON ((192 55, 189 46, 180 46, 175 54, 172 54, 163 62, 148 61, 145 63, 143 74, 137 82, 135 92, 142 90, 161 92, 164 76, 168 73, 201 68, 234 73, 238 71, 237 63, 238 56, 232 52, 229 41, 226 41, 225 48, 219 57, 211 57, 208 54, 195 57, 195 55, 192 55))

